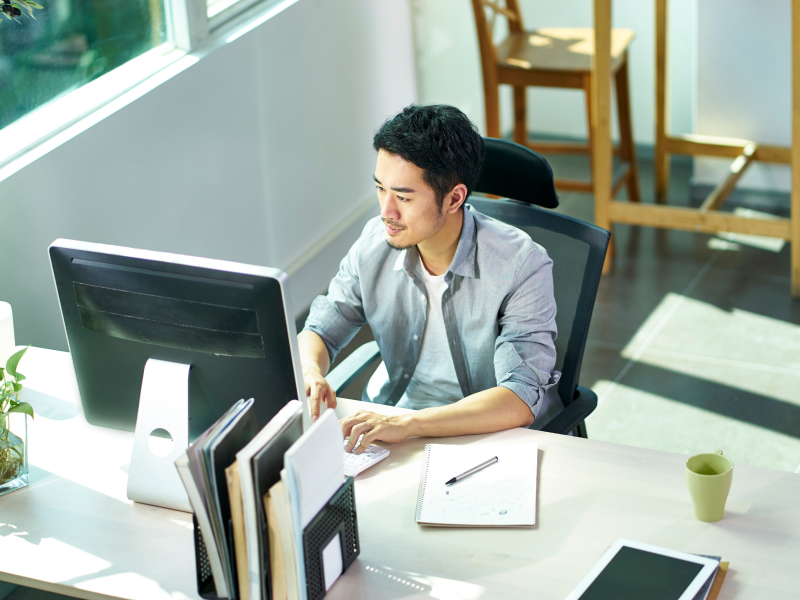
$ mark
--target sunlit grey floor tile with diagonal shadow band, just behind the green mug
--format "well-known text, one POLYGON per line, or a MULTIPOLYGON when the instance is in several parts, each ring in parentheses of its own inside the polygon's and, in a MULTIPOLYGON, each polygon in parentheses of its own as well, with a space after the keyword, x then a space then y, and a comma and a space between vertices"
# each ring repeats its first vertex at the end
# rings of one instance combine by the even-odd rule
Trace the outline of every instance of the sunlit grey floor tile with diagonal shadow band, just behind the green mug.
MULTIPOLYGON (((592 439, 687 455, 722 449, 734 463, 794 471, 800 464, 800 406, 753 391, 765 373, 645 354, 586 421, 592 439)), ((599 385, 602 386, 602 382, 599 385)), ((785 376, 787 389, 800 374, 785 376)), ((765 385, 765 387, 769 387, 765 385)))

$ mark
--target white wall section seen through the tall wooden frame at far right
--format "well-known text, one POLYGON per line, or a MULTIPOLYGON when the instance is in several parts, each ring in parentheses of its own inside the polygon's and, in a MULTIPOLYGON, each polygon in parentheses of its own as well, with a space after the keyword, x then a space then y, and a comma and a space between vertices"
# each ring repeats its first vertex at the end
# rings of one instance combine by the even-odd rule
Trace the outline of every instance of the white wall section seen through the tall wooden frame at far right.
MULTIPOLYGON (((790 0, 698 3, 697 133, 789 146, 790 0)), ((716 185, 730 160, 695 160, 695 181, 716 185)), ((790 190, 788 165, 753 163, 747 188, 790 190)))

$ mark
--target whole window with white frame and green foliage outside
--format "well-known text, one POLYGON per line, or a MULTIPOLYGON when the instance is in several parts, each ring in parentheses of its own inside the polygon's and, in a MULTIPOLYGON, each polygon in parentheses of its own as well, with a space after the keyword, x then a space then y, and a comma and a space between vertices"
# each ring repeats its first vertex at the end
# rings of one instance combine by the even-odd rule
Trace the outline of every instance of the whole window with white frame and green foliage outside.
POLYGON ((0 179, 71 125, 89 126, 84 117, 202 55, 188 52, 227 43, 296 1, 38 0, 35 19, 24 9, 18 22, 0 17, 0 179))

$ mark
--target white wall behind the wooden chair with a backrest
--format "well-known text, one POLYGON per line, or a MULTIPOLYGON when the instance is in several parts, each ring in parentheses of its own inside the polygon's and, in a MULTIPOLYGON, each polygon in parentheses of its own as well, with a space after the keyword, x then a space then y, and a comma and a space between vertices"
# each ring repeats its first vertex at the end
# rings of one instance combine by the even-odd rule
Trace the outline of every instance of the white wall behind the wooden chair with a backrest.
MULTIPOLYGON (((521 10, 527 29, 593 25, 591 0, 521 0, 521 10)), ((414 0, 413 12, 420 101, 454 104, 485 130, 480 54, 472 3, 468 0, 414 0)), ((616 0, 612 19, 614 27, 627 27, 636 33, 629 53, 634 137, 637 143, 653 144, 654 2, 616 0)), ((694 19, 694 0, 669 2, 673 133, 692 131, 694 19)), ((504 91, 508 93, 501 95, 501 126, 504 132, 510 132, 513 126, 510 88, 504 91)), ((585 138, 585 115, 580 91, 528 89, 528 129, 532 132, 585 138)))

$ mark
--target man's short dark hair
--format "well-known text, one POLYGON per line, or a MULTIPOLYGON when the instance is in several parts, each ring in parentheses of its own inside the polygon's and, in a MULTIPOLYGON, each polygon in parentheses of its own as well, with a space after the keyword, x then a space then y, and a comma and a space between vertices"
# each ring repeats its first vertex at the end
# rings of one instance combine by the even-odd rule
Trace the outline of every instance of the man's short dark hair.
POLYGON ((463 112, 454 106, 406 106, 388 119, 372 140, 376 151, 399 156, 423 170, 439 210, 457 184, 475 189, 483 164, 483 138, 463 112))

